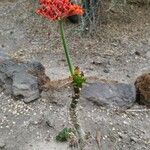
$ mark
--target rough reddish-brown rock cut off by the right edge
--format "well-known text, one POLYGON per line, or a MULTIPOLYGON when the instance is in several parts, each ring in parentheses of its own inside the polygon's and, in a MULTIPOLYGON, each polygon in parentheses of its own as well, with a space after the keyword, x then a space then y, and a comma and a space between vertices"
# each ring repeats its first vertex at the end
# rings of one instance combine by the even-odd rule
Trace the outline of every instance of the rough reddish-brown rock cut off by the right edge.
POLYGON ((139 76, 135 81, 135 87, 137 102, 150 106, 150 73, 139 76))

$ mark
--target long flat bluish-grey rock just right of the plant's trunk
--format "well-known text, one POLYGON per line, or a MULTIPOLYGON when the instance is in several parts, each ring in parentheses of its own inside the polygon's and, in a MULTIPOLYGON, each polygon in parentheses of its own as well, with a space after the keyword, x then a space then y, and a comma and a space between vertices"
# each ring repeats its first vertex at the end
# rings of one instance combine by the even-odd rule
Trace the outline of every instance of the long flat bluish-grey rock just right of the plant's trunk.
POLYGON ((129 108, 135 101, 135 88, 125 83, 100 81, 85 85, 81 97, 98 106, 129 108))

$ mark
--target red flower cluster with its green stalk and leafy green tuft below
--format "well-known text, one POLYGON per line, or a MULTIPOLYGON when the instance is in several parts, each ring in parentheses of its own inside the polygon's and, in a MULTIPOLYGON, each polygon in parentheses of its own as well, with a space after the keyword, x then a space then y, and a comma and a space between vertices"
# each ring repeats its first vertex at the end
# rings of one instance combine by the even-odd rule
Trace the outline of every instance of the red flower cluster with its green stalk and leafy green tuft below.
POLYGON ((74 86, 81 88, 86 79, 79 67, 74 67, 72 63, 64 34, 63 22, 64 19, 69 16, 83 15, 83 9, 79 5, 72 4, 69 0, 39 0, 39 4, 40 8, 36 10, 37 14, 53 21, 57 20, 59 23, 62 43, 73 84, 74 86))

